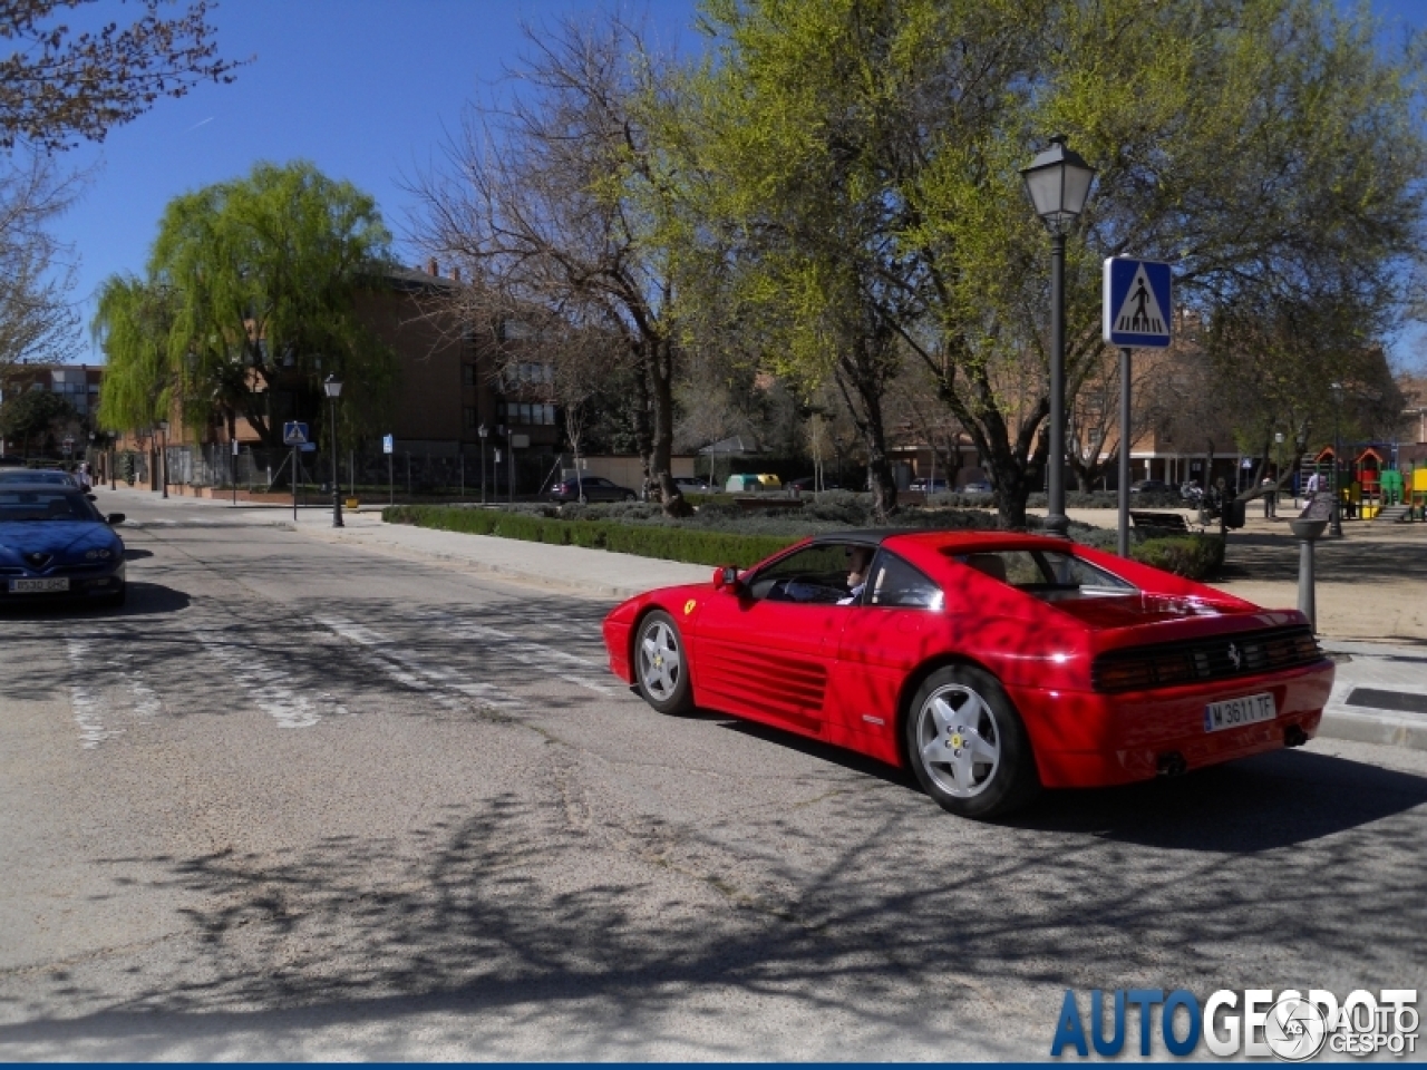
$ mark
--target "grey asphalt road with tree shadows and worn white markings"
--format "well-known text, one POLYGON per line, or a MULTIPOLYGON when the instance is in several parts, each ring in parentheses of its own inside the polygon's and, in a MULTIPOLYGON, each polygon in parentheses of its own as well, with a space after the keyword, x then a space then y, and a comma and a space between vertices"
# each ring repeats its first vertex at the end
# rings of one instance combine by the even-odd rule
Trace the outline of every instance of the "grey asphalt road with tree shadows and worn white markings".
POLYGON ((972 823, 655 715, 605 603, 160 516, 124 611, 0 615, 0 1059, 1045 1059, 1066 987, 1427 990, 1427 753, 972 823))

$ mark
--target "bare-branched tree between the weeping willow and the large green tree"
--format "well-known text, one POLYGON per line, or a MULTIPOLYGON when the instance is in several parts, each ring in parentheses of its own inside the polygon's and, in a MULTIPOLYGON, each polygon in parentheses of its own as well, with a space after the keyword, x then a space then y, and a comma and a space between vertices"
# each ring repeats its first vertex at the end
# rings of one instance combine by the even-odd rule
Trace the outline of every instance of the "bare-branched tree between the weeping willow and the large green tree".
POLYGON ((618 20, 528 29, 527 41, 529 56, 512 73, 521 91, 504 106, 472 104, 445 167, 411 184, 421 204, 414 237, 511 307, 622 340, 638 371, 646 486, 666 511, 686 512, 671 475, 682 282, 668 244, 675 181, 646 120, 665 91, 664 61, 618 20))

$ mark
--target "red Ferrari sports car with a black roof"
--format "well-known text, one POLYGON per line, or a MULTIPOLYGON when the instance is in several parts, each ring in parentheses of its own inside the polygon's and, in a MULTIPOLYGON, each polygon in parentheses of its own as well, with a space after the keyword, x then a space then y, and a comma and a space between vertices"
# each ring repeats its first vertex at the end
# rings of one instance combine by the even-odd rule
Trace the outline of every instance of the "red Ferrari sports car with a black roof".
POLYGON ((604 633, 656 710, 910 766, 969 817, 1299 746, 1333 686, 1303 613, 1039 535, 819 535, 632 598, 604 633))

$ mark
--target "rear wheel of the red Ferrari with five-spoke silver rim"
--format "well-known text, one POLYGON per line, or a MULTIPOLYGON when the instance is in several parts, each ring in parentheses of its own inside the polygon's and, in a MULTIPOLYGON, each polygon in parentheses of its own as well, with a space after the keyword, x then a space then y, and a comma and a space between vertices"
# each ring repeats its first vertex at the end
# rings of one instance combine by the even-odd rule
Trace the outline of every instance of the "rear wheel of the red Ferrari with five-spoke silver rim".
POLYGON ((926 678, 906 748, 926 793, 962 817, 1010 813, 1040 790, 1026 726, 996 678, 969 665, 926 678))

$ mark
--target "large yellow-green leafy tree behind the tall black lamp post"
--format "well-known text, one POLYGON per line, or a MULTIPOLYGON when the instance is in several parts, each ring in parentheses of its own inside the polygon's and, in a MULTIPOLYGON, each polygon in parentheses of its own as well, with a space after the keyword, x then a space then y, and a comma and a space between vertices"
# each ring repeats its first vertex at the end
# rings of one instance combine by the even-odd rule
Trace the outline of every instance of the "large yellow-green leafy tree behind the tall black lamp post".
POLYGON ((1400 302, 1393 280, 1418 257, 1420 67, 1380 53, 1366 14, 1324 0, 705 10, 722 51, 704 94, 714 148, 695 147, 726 187, 709 225, 748 233, 735 260, 746 250, 773 322, 808 340, 782 347, 783 371, 816 378, 890 325, 1012 525, 1050 461, 1049 257, 1019 175, 1049 131, 1100 168, 1067 250, 1072 399, 1103 368, 1104 255, 1174 261, 1206 320, 1324 274, 1347 275, 1337 292, 1363 308, 1400 302), (860 325, 819 345, 828 322, 860 325))

